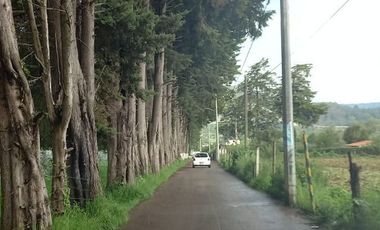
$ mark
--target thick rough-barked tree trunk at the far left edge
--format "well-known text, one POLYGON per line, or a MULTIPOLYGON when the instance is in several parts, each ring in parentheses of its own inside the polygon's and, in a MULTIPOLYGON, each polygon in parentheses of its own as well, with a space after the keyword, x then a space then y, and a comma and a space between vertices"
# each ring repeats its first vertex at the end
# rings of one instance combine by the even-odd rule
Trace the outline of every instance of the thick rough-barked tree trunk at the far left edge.
POLYGON ((28 81, 22 70, 10 0, 0 0, 1 229, 50 229, 51 213, 40 140, 28 81), (25 183, 27 182, 27 183, 25 183))

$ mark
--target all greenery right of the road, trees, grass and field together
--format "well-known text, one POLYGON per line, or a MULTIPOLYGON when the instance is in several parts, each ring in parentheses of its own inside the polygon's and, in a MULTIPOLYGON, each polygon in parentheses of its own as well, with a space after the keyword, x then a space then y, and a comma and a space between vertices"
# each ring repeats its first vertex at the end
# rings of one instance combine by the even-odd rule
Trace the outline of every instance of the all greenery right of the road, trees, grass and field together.
MULTIPOLYGON (((311 64, 292 67, 297 207, 327 229, 379 229, 380 121, 368 115, 378 108, 363 109, 366 113, 356 116, 361 111, 352 105, 342 117, 336 115, 334 104, 313 102, 316 92, 310 87, 311 70, 311 64), (321 125, 326 119, 330 125, 321 125), (315 205, 310 199, 304 133, 309 137, 315 205)), ((224 147, 221 165, 249 186, 288 203, 279 82, 262 59, 231 93, 222 111, 221 143, 240 144, 224 147)), ((205 132, 201 134, 205 136, 205 132)), ((289 167, 293 164, 287 163, 289 167)))

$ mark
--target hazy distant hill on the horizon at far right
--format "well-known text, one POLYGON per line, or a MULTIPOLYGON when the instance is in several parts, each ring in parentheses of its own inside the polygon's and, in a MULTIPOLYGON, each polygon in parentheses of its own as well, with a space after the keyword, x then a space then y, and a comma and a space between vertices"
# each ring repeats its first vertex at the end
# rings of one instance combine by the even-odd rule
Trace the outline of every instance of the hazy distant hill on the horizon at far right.
POLYGON ((337 104, 327 103, 326 115, 321 116, 318 125, 352 125, 371 120, 380 120, 380 103, 337 104))

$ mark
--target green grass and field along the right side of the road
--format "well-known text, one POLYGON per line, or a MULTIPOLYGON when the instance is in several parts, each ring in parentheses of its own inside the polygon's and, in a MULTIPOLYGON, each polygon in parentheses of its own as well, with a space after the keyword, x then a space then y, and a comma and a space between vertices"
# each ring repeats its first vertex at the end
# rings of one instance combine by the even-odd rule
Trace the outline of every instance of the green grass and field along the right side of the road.
MULTIPOLYGON (((251 187, 265 191, 273 197, 286 201, 284 191, 283 159, 278 154, 276 173, 272 175, 271 153, 261 153, 260 175, 255 177, 254 151, 233 148, 231 157, 223 158, 221 165, 237 175, 251 187)), ((313 216, 325 229, 355 229, 352 214, 353 201, 349 187, 348 162, 344 156, 318 156, 312 158, 313 185, 316 201, 316 212, 312 212, 304 156, 297 155, 297 207, 313 216)), ((360 229, 372 230, 380 227, 380 158, 375 156, 356 156, 355 161, 363 166, 362 198, 360 203, 360 229)))

